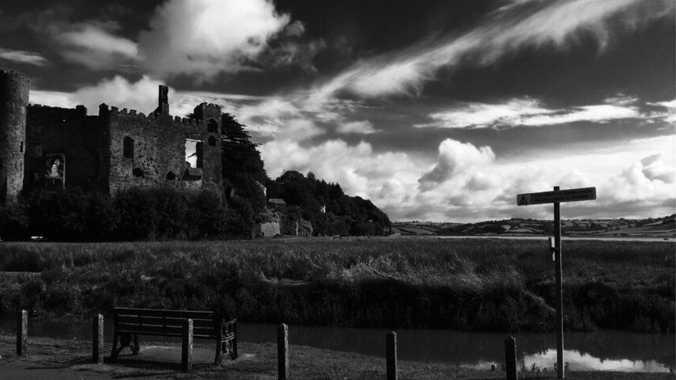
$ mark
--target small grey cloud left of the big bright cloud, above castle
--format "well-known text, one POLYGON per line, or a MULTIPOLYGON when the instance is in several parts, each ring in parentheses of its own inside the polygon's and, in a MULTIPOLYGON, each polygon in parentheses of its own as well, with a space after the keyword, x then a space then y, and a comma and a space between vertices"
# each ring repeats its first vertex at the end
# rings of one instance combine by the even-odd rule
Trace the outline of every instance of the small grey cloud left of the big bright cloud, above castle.
POLYGON ((119 26, 115 23, 82 23, 54 26, 60 29, 53 38, 62 44, 60 54, 71 62, 89 69, 110 69, 135 64, 139 59, 136 42, 113 33, 119 26))

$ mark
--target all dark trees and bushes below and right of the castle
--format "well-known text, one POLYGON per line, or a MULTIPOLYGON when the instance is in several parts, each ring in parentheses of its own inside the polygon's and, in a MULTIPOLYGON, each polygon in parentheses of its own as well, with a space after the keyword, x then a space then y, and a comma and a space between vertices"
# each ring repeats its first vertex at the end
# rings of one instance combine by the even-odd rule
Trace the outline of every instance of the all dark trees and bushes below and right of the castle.
POLYGON ((267 177, 258 144, 231 114, 222 118, 223 194, 131 188, 114 197, 80 188, 24 194, 0 206, 0 237, 45 235, 58 240, 251 238, 256 223, 274 219, 267 198, 287 208, 278 220, 305 219, 315 235, 382 235, 390 221, 371 201, 348 197, 337 183, 299 172, 267 177), (268 188, 267 197, 265 195, 268 188), (323 212, 322 206, 326 206, 323 212))

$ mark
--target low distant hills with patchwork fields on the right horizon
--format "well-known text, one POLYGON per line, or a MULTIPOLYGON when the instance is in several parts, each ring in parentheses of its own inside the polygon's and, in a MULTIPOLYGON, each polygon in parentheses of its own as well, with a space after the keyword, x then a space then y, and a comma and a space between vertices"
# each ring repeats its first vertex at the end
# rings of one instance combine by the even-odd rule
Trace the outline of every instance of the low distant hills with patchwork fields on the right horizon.
MULTIPOLYGON (((676 237, 675 215, 648 219, 570 219, 562 221, 561 230, 564 236, 676 237)), ((399 235, 545 236, 552 235, 553 221, 518 218, 478 223, 399 221, 392 224, 392 233, 399 235)))

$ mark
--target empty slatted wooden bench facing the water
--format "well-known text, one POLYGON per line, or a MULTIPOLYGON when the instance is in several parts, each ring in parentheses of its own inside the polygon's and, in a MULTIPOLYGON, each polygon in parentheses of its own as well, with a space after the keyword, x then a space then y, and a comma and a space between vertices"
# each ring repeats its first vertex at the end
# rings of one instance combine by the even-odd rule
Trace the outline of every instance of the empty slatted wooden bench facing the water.
POLYGON ((180 336, 183 338, 184 370, 192 362, 193 337, 215 339, 216 356, 214 363, 220 363, 222 354, 237 359, 237 319, 225 321, 213 311, 160 310, 113 308, 113 348, 111 359, 116 359, 125 347, 134 355, 139 353, 139 335, 180 336), (192 332, 188 331, 188 320, 192 320, 192 332), (133 341, 133 343, 132 343, 133 341), (189 341, 189 342, 188 342, 189 341), (118 343, 120 347, 118 347, 118 343), (189 347, 188 347, 189 346, 189 347), (188 358, 188 352, 190 352, 188 358))

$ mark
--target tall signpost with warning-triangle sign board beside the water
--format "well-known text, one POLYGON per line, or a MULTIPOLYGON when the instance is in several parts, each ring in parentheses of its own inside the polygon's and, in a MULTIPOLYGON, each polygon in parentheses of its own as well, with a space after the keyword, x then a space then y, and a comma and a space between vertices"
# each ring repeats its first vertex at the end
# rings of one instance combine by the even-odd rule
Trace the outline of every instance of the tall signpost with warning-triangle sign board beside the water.
POLYGON ((556 275, 556 375, 559 379, 564 378, 563 361, 563 286, 561 265, 561 202, 593 201, 596 199, 596 188, 578 188, 559 190, 554 186, 554 191, 531 192, 517 195, 517 206, 531 204, 554 203, 554 244, 550 250, 554 254, 554 271, 556 275))

